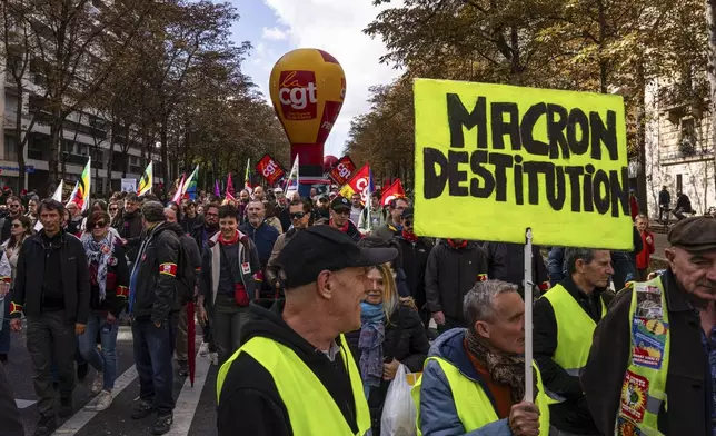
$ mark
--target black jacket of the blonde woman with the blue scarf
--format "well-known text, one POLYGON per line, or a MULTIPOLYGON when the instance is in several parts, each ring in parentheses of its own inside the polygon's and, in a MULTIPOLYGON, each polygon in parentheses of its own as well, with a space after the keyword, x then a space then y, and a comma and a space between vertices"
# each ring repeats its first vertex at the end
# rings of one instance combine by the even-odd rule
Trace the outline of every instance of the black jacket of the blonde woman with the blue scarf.
MULTIPOLYGON (((408 367, 410 373, 421 371, 422 364, 430 350, 430 343, 417 309, 411 303, 401 303, 390 315, 390 321, 385 320, 384 324, 386 331, 382 341, 384 361, 390 363, 396 359, 408 367)), ((359 339, 360 329, 346 334, 346 340, 350 346, 350 353, 356 359, 356 365, 360 365, 359 339)), ((388 387, 390 387, 390 382, 381 380, 380 386, 370 389, 368 407, 370 408, 374 435, 380 434, 380 416, 388 387)))

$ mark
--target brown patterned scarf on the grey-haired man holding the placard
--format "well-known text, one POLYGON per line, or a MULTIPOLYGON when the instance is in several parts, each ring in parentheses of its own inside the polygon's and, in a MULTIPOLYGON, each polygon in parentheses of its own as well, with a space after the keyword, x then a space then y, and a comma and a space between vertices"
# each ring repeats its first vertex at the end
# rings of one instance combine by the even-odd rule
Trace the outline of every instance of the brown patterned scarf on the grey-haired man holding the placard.
MULTIPOLYGON (((495 383, 511 388, 513 402, 520 403, 525 398, 525 356, 494 353, 469 330, 465 334, 465 344, 473 357, 487 368, 495 383)), ((537 376, 533 376, 533 379, 537 394, 537 376)))

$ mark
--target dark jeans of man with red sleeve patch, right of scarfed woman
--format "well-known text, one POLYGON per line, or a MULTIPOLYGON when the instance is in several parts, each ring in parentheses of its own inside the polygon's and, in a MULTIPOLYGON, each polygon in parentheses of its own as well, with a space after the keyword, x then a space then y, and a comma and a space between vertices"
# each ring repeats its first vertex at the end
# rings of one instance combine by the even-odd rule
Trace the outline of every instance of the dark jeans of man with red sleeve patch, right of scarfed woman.
POLYGON ((159 416, 171 415, 175 408, 171 367, 171 321, 157 327, 149 319, 132 323, 135 364, 139 374, 139 397, 153 403, 159 416))

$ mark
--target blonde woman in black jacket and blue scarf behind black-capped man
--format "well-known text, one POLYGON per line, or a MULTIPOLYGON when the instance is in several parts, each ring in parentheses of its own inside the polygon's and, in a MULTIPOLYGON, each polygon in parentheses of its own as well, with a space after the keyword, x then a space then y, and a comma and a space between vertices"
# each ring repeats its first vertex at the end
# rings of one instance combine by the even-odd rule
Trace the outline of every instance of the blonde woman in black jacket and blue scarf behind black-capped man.
POLYGON ((400 364, 411 373, 422 369, 430 343, 410 297, 400 297, 388 264, 367 271, 366 298, 360 304, 360 330, 347 335, 358 360, 370 408, 374 435, 390 383, 400 364))

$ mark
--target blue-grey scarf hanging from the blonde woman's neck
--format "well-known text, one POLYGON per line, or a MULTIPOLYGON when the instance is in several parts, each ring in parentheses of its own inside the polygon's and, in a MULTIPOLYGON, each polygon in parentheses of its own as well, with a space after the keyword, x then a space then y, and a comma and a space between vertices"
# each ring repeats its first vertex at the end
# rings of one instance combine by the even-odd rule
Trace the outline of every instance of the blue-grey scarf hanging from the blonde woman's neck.
MULTIPOLYGON (((386 336, 382 305, 360 304, 360 375, 364 386, 380 386, 382 378, 382 340, 386 336)), ((366 389, 368 390, 368 389, 366 389)))

